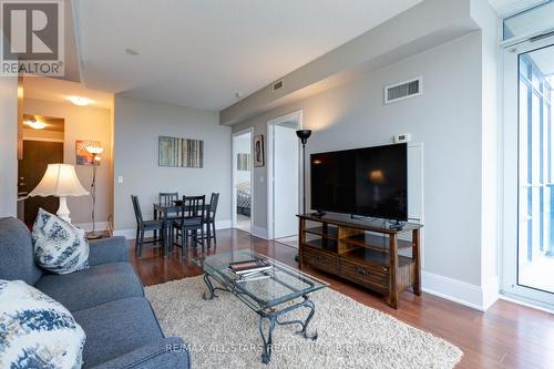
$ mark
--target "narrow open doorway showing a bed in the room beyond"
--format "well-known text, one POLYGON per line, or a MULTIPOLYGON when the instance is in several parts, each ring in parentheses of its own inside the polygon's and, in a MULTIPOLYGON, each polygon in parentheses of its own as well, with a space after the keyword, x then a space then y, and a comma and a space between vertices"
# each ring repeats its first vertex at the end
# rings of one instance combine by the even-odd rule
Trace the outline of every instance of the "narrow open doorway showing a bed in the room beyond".
POLYGON ((253 136, 249 129, 233 134, 233 227, 253 228, 253 136))

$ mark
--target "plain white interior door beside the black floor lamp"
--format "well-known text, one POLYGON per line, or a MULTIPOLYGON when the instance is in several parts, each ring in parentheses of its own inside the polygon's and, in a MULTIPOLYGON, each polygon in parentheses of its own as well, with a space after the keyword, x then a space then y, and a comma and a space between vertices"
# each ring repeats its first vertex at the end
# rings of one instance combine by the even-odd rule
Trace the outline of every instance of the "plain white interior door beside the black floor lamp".
POLYGON ((274 238, 298 233, 299 163, 296 129, 274 125, 274 238))

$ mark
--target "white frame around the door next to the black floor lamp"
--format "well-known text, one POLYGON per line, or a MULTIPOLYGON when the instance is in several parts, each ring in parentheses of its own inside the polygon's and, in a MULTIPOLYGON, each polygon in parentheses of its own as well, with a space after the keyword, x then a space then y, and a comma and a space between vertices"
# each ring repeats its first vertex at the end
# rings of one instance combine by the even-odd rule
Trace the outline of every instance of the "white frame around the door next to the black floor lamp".
MULTIPOLYGON (((286 115, 273 119, 267 122, 267 238, 268 239, 274 239, 275 238, 275 233, 274 233, 274 126, 278 125, 280 123, 285 122, 290 122, 290 121, 296 121, 298 123, 297 130, 302 129, 302 110, 298 110, 291 113, 288 113, 286 115)), ((301 157, 301 144, 300 140, 298 140, 298 162, 300 163, 300 157, 301 157)), ((301 183, 302 177, 304 177, 304 166, 298 165, 299 173, 298 173, 298 180, 299 183, 301 183)), ((302 186, 298 186, 298 211, 300 211, 300 204, 302 199, 302 186)))

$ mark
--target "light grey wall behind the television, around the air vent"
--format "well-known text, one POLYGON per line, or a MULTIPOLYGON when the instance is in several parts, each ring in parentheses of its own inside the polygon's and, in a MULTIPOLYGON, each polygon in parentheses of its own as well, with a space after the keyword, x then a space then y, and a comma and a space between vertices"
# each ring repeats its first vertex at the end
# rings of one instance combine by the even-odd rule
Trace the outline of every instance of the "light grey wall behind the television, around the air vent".
MULTIPOLYGON (((480 31, 371 72, 356 82, 234 125, 266 134, 268 120, 302 109, 309 153, 389 143, 424 144, 424 283, 481 306, 482 34, 480 31), (423 76, 423 94, 384 105, 383 86, 423 76), (466 296, 468 295, 468 296, 466 296), (478 296, 479 295, 479 296, 478 296)), ((309 168, 308 168, 309 171, 309 168)), ((255 168, 256 227, 266 228, 266 167, 255 168)), ((309 173, 307 173, 309 188, 309 173)), ((309 192, 308 192, 309 204, 309 192)))

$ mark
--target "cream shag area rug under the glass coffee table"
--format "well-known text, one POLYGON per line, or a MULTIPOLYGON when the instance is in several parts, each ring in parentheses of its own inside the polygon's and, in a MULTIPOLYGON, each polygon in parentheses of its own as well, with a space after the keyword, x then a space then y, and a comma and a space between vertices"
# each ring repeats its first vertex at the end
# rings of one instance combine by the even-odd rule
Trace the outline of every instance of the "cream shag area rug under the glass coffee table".
MULTIPOLYGON (((316 314, 308 332, 317 330, 317 340, 297 335, 298 325, 276 326, 271 361, 264 365, 259 316, 225 291, 204 300, 205 290, 202 277, 146 287, 164 334, 185 340, 193 368, 453 368, 463 355, 443 339, 324 288, 310 295, 316 314)), ((307 312, 279 320, 304 319, 307 312)))

